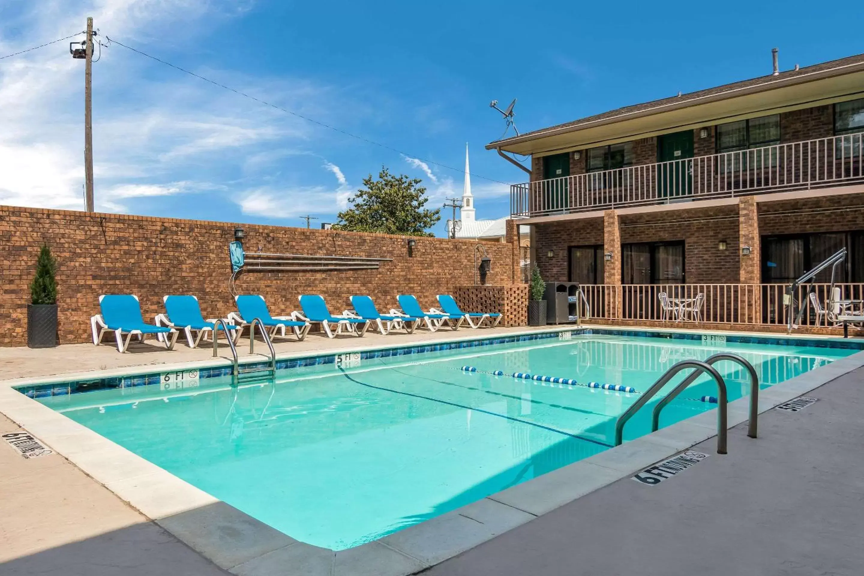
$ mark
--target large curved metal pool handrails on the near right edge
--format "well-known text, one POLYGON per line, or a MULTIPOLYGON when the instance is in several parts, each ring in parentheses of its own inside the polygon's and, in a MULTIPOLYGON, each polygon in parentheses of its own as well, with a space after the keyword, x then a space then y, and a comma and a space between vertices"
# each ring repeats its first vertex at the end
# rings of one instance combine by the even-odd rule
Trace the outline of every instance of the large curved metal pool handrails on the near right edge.
POLYGON ((693 372, 691 372, 688 377, 684 378, 681 383, 675 387, 675 389, 664 396, 664 398, 657 403, 657 406, 654 407, 654 410, 651 413, 651 432, 658 431, 658 428, 660 427, 660 412, 663 408, 675 400, 676 396, 681 394, 690 384, 694 383, 696 378, 702 376, 702 374, 708 374, 708 376, 714 378, 715 383, 717 383, 717 453, 725 454, 728 403, 726 396, 726 382, 723 380, 723 377, 721 377, 720 372, 718 372, 714 367, 714 364, 721 360, 728 360, 740 364, 750 373, 750 421, 747 425, 747 436, 750 438, 756 438, 758 427, 757 419, 759 418, 759 375, 756 374, 756 369, 753 368, 753 364, 750 364, 744 358, 741 358, 737 354, 721 352, 720 354, 715 354, 714 356, 707 358, 704 362, 701 360, 683 360, 674 364, 669 370, 666 370, 664 375, 659 377, 658 381, 653 383, 651 388, 649 388, 645 394, 639 396, 637 401, 633 402, 633 405, 630 408, 627 408, 624 414, 619 416, 618 421, 615 422, 615 446, 620 446, 624 438, 624 425, 639 411, 639 408, 645 406, 645 404, 651 400, 651 397, 657 394, 660 389, 669 383, 672 377, 674 377, 678 372, 692 368, 693 372))

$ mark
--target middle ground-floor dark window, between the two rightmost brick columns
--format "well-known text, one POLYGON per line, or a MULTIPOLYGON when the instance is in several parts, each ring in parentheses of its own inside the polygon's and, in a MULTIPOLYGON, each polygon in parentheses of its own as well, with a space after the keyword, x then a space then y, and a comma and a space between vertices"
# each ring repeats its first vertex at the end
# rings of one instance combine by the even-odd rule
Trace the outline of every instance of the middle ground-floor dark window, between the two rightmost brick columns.
POLYGON ((655 242, 621 246, 624 284, 683 284, 684 243, 655 242))

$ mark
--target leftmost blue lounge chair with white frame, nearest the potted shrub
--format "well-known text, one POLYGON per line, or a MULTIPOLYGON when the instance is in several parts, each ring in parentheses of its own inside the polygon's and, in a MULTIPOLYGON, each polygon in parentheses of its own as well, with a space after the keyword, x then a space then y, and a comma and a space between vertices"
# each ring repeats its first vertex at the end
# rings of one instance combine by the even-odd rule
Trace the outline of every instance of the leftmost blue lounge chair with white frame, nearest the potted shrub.
POLYGON ((177 341, 177 332, 174 328, 165 326, 153 326, 144 322, 141 315, 141 304, 134 294, 102 294, 99 296, 100 314, 90 319, 90 329, 93 333, 93 344, 99 345, 105 332, 114 332, 117 339, 117 349, 121 353, 129 348, 132 336, 137 336, 139 341, 144 340, 145 334, 156 334, 168 350, 174 348, 177 341), (123 339, 123 335, 126 339, 123 339), (164 336, 164 339, 162 338, 164 336))

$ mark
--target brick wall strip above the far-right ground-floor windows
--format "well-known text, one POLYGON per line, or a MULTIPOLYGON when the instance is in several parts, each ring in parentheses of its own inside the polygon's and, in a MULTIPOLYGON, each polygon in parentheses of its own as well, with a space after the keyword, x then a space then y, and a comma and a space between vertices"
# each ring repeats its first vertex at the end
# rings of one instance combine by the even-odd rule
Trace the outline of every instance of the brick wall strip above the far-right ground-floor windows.
POLYGON ((864 194, 759 204, 759 234, 762 237, 854 230, 864 230, 864 194))

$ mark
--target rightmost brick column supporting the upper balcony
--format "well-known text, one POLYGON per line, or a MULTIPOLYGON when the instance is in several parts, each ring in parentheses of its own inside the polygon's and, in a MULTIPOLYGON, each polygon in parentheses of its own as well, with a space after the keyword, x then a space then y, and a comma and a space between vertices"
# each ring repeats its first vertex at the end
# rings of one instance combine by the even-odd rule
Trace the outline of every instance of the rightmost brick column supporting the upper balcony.
POLYGON ((739 321, 762 321, 762 282, 761 238, 759 237, 759 205, 755 196, 745 196, 738 201, 738 237, 739 246, 750 247, 750 255, 739 253, 738 282, 748 284, 741 286, 739 301, 743 310, 739 310, 739 321))

